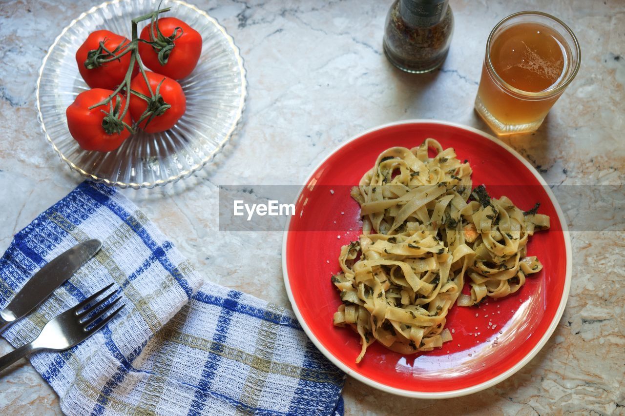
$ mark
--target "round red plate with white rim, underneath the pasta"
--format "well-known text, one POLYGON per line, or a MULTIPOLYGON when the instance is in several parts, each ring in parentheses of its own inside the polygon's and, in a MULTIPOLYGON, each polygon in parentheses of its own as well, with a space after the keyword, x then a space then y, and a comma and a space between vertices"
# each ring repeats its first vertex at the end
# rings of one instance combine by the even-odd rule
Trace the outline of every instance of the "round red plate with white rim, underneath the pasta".
POLYGON ((377 389, 422 399, 486 389, 527 364, 564 311, 571 283, 571 244, 556 199, 514 149, 471 127, 406 121, 367 131, 321 162, 302 187, 295 212, 286 224, 282 270, 297 319, 328 359, 377 389), (443 148, 454 147, 459 159, 468 159, 474 186, 486 184, 491 196, 505 194, 521 209, 541 203, 539 212, 551 217, 551 229, 534 234, 527 253, 538 255, 544 267, 516 294, 480 307, 454 306, 446 325, 454 339, 442 349, 402 355, 376 343, 356 364, 359 337, 351 329, 332 325, 341 300, 330 281, 339 270, 341 245, 356 240, 361 230, 359 207, 349 196, 349 186, 358 184, 384 149, 411 148, 427 137, 437 139, 443 148))

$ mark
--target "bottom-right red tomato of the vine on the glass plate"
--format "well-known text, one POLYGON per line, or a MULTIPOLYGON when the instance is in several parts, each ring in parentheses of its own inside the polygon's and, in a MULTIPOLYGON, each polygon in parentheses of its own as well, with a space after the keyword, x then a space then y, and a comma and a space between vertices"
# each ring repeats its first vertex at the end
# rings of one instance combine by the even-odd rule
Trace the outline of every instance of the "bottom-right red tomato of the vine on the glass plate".
MULTIPOLYGON (((156 94, 158 88, 158 96, 156 96, 156 99, 149 99, 148 102, 143 97, 131 94, 130 112, 136 122, 139 122, 146 110, 151 116, 154 115, 154 118, 151 120, 151 117, 148 117, 139 122, 139 127, 148 133, 169 130, 183 116, 187 107, 187 99, 184 96, 183 87, 176 80, 155 72, 146 71, 146 76, 154 94, 156 94), (160 87, 159 84, 161 84, 160 87)), ((138 76, 133 78, 130 88, 146 97, 151 97, 152 95, 142 74, 138 74, 138 76)))

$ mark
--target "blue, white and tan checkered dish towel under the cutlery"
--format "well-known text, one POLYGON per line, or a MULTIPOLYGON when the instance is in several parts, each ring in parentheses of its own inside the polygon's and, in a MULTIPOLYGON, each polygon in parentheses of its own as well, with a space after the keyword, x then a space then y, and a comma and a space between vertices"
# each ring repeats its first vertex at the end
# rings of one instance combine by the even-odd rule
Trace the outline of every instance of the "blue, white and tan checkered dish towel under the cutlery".
POLYGON ((344 374, 289 310, 202 285, 173 244, 113 188, 83 182, 14 237, 0 259, 0 305, 49 260, 91 238, 103 241, 98 254, 2 334, 25 344, 47 320, 115 282, 126 304, 118 317, 73 349, 31 356, 63 412, 342 414, 344 374))

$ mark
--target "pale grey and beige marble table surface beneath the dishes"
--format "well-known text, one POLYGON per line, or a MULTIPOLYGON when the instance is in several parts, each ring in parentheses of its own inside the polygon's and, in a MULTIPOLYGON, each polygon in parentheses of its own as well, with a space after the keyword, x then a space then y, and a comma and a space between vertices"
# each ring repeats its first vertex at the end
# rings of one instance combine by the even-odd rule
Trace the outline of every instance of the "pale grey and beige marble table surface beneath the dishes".
MULTIPOLYGON (((582 62, 536 134, 502 140, 549 184, 623 183, 622 0, 451 0, 456 29, 449 57, 439 71, 424 76, 397 71, 381 52, 389 1, 191 2, 216 17, 241 47, 249 81, 243 127, 211 166, 191 178, 123 192, 218 284, 289 306, 282 233, 219 232, 217 186, 301 184, 331 149, 386 122, 442 119, 488 131, 473 100, 486 37, 511 12, 540 10, 560 17, 579 38, 582 62), (241 248, 254 260, 241 259, 241 248)), ((13 234, 81 181, 42 136, 34 91, 41 59, 61 27, 97 3, 0 2, 0 252, 13 234)), ((574 204, 569 208, 568 214, 584 214, 574 204)), ((613 209, 622 225, 622 200, 613 209)), ((625 414, 624 236, 622 227, 571 233, 574 264, 564 317, 517 374, 444 404, 394 397, 348 378, 346 414, 436 414, 441 405, 446 414, 625 414)), ((2 340, 0 352, 9 349, 2 340)), ((53 390, 22 360, 11 377, 0 378, 0 413, 61 410, 53 390)))

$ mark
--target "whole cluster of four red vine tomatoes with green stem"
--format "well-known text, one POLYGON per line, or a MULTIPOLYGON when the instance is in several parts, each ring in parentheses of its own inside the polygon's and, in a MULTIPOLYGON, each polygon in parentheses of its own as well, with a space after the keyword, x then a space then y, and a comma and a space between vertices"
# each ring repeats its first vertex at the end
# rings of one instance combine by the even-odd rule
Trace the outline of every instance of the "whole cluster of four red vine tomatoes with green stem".
POLYGON ((137 128, 171 129, 186 111, 178 79, 199 61, 202 37, 175 17, 155 11, 133 19, 133 39, 94 31, 76 52, 76 63, 91 89, 78 94, 66 111, 69 132, 88 151, 117 149, 137 128), (151 19, 137 36, 136 24, 151 19), (145 65, 151 71, 146 71, 145 65))

